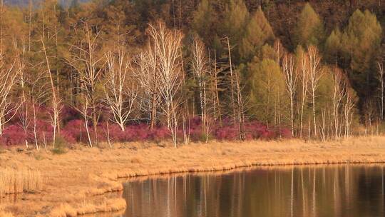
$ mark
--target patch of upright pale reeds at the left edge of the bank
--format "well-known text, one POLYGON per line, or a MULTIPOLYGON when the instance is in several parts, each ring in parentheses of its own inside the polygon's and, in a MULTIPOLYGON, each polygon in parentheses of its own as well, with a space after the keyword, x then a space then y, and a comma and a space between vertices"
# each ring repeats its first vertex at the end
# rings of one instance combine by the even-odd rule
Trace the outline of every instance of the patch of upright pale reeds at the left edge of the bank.
POLYGON ((41 182, 41 173, 36 170, 0 169, 0 198, 11 193, 39 191, 41 182))

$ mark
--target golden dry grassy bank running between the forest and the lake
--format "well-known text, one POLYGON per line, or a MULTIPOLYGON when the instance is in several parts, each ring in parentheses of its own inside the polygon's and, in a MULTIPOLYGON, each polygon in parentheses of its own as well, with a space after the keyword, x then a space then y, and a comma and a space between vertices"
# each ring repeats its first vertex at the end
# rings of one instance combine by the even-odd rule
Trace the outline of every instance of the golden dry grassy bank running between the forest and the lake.
POLYGON ((169 144, 163 147, 155 143, 126 143, 116 144, 112 149, 76 146, 60 155, 4 150, 0 153, 0 168, 39 171, 42 181, 41 190, 22 194, 17 203, 3 200, 0 204, 4 213, 14 216, 78 216, 124 211, 125 201, 119 198, 120 194, 109 193, 123 190, 118 178, 222 171, 253 165, 383 162, 385 137, 381 136, 324 143, 210 142, 180 148, 169 144))

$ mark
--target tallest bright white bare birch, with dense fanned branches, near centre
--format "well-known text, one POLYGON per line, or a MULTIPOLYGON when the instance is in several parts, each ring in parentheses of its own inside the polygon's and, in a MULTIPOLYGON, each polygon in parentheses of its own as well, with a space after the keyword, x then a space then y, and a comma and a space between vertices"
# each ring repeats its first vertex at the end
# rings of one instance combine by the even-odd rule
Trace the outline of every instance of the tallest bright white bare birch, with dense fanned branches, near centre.
POLYGON ((158 92, 163 103, 160 105, 167 119, 167 126, 173 137, 174 146, 177 146, 179 102, 177 94, 182 84, 180 46, 182 34, 179 31, 168 30, 165 24, 150 25, 151 44, 158 59, 159 86, 158 92))

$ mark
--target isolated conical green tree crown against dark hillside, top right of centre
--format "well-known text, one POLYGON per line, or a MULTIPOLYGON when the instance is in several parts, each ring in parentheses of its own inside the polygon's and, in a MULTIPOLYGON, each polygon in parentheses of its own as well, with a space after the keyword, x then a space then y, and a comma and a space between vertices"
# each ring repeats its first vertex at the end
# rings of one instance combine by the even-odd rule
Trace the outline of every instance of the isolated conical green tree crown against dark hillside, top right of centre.
POLYGON ((312 6, 307 3, 302 9, 294 31, 294 44, 319 46, 324 40, 324 24, 312 6))

